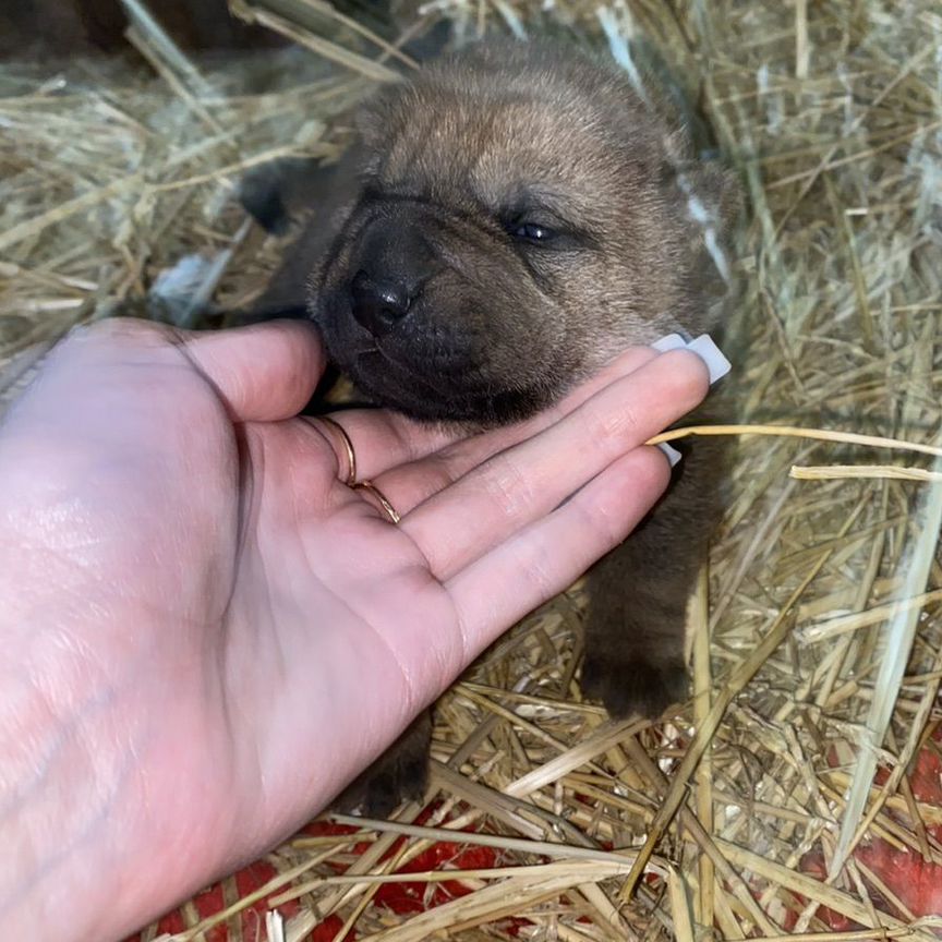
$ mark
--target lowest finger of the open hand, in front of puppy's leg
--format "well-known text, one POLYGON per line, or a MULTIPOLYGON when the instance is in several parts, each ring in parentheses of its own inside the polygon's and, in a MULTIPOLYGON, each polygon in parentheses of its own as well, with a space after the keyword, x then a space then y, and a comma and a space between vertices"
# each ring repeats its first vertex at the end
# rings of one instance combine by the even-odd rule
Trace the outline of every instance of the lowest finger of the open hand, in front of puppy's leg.
POLYGON ((656 448, 636 448, 572 499, 500 543, 445 588, 463 632, 456 674, 506 629, 579 578, 638 526, 664 493, 669 467, 656 448))

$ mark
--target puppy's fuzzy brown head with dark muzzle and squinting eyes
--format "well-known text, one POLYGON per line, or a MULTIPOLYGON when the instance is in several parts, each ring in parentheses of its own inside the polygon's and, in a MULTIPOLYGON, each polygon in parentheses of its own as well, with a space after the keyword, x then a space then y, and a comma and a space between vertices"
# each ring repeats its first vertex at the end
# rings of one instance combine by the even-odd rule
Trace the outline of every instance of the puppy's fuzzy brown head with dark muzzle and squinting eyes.
POLYGON ((507 422, 630 343, 703 326, 686 145, 617 75, 488 46, 385 89, 359 126, 311 303, 379 403, 507 422))

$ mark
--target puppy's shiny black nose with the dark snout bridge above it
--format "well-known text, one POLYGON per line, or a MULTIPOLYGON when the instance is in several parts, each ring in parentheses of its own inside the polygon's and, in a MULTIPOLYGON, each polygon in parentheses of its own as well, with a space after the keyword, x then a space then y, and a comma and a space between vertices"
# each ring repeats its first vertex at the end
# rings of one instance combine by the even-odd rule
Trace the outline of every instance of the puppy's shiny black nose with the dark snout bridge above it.
POLYGON ((361 235, 350 266, 350 310, 374 337, 382 337, 415 310, 433 267, 433 253, 414 225, 381 217, 361 235))

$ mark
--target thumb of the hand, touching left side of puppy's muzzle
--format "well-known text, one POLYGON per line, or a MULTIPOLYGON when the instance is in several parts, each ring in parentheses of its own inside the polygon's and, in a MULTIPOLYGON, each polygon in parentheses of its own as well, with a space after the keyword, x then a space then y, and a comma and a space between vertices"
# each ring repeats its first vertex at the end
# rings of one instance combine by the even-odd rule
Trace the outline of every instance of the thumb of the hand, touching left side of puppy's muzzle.
POLYGON ((313 325, 270 321, 231 330, 178 335, 181 349, 216 388, 238 422, 297 415, 324 372, 325 354, 313 325))

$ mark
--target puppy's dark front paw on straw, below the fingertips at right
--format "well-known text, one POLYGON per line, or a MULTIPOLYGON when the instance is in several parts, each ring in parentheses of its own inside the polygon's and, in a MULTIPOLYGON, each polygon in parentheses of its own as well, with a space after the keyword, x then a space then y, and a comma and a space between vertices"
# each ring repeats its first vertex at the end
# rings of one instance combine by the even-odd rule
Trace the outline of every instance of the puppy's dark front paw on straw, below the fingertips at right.
POLYGON ((620 659, 590 652, 582 665, 582 690, 601 700, 617 720, 660 716, 668 706, 687 699, 689 685, 679 659, 651 661, 642 654, 620 659))

